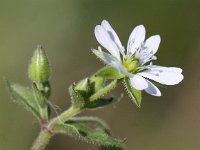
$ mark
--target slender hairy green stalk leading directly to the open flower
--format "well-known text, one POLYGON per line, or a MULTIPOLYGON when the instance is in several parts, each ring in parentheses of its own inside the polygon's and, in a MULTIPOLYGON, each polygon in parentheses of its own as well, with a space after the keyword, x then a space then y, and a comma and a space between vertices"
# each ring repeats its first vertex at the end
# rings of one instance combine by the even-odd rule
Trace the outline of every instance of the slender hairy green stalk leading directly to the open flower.
POLYGON ((112 81, 110 84, 108 84, 107 86, 105 86, 103 89, 100 89, 98 92, 96 92, 95 94, 93 94, 92 96, 90 96, 89 101, 91 101, 91 102, 95 101, 98 98, 100 98, 101 96, 107 94, 112 89, 114 89, 121 81, 122 81, 122 79, 118 79, 118 80, 112 81))

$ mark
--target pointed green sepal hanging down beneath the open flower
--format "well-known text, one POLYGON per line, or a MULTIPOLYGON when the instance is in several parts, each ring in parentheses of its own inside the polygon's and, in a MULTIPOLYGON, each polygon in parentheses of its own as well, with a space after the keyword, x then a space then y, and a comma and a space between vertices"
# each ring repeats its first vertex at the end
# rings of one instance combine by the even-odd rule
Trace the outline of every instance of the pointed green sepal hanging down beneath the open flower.
POLYGON ((125 87, 127 89, 127 92, 131 99, 134 101, 134 103, 140 107, 141 106, 141 101, 142 101, 142 92, 139 90, 136 90, 131 86, 130 79, 125 78, 125 87))

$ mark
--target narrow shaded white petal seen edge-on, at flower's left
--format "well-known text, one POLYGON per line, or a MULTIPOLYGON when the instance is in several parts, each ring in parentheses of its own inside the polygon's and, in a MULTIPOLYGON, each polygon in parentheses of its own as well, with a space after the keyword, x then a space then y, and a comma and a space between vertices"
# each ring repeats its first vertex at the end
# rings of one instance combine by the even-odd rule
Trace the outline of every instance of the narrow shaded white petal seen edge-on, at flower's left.
POLYGON ((120 62, 118 62, 117 60, 115 60, 114 58, 110 57, 109 55, 107 55, 105 52, 103 52, 101 50, 101 47, 98 48, 99 52, 102 54, 103 59, 105 60, 105 62, 107 62, 109 65, 115 67, 117 70, 120 71, 121 74, 126 74, 127 71, 124 69, 124 67, 120 64, 120 62))

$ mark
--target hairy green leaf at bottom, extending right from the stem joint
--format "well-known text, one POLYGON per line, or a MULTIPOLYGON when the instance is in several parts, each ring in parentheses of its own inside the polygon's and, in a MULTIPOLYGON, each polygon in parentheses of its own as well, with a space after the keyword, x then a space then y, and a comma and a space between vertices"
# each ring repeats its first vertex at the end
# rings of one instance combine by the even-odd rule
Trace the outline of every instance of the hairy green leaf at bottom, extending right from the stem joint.
POLYGON ((57 124, 54 126, 56 133, 69 135, 75 139, 83 140, 87 143, 99 146, 116 146, 120 147, 122 140, 113 138, 100 128, 89 128, 78 121, 68 122, 65 124, 57 124))

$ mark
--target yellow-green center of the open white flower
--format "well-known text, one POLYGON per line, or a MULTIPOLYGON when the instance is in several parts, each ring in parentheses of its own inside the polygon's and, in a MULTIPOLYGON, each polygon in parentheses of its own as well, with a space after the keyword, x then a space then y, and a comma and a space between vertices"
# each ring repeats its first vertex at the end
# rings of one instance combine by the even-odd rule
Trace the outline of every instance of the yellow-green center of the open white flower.
POLYGON ((131 57, 131 58, 126 58, 123 61, 123 66, 124 68, 126 68, 126 70, 129 73, 136 73, 138 67, 140 66, 140 62, 139 59, 135 58, 135 57, 131 57))

